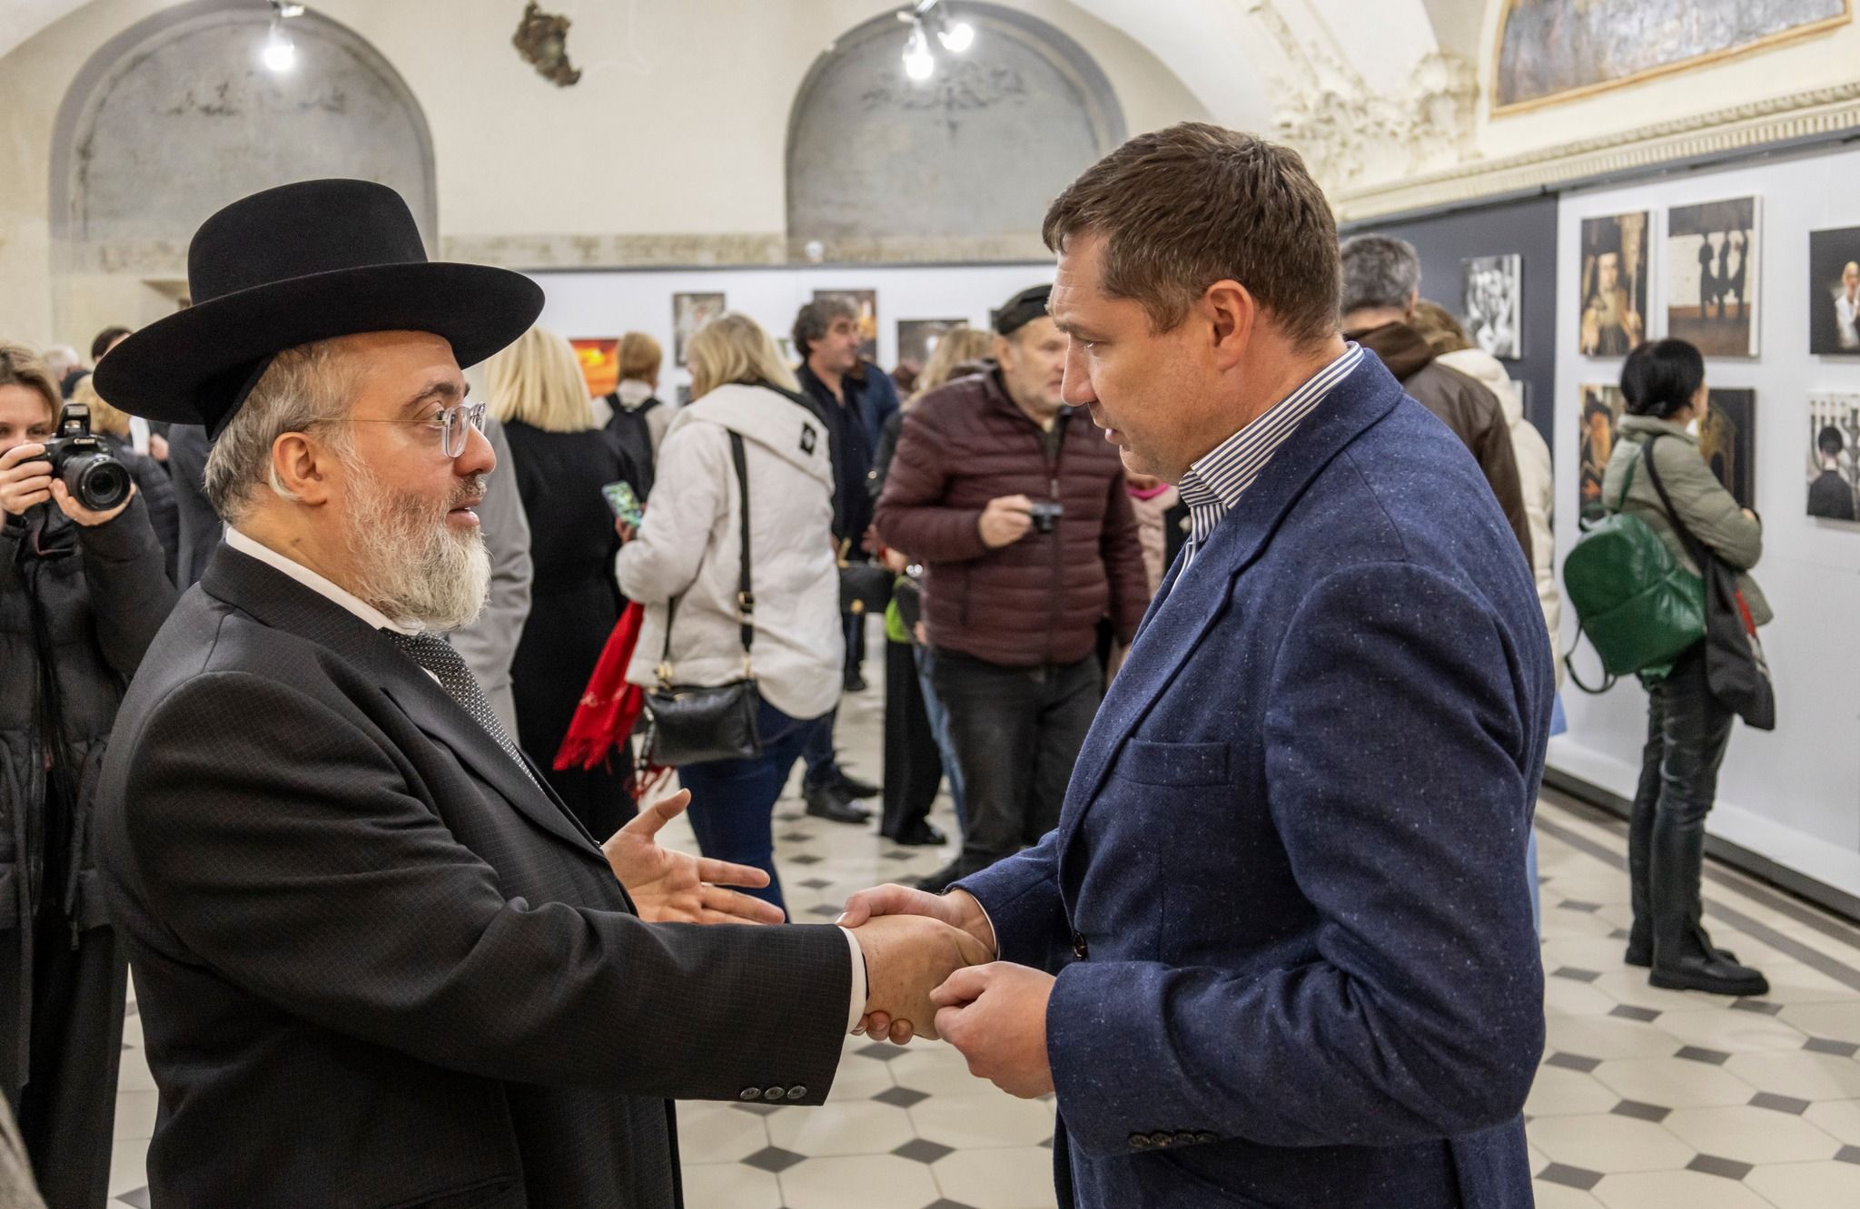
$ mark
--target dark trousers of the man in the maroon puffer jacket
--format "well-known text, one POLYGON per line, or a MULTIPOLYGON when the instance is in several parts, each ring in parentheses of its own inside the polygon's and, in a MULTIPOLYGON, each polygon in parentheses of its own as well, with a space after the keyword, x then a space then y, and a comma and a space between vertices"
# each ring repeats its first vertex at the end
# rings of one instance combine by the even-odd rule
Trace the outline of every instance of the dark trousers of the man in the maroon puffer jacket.
POLYGON ((937 651, 932 679, 962 766, 969 813, 962 863, 986 869, 1058 826, 1071 766, 1097 714, 1097 658, 1003 668, 937 651))

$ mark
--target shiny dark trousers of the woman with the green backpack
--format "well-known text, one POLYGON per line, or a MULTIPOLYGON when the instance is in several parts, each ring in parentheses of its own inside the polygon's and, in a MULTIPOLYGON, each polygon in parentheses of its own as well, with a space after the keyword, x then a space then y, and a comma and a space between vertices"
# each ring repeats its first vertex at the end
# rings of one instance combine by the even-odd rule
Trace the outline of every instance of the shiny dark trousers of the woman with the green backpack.
POLYGON ((1628 876, 1635 937, 1652 941, 1655 965, 1702 949, 1706 815, 1719 792, 1732 720, 1706 681, 1704 644, 1648 688, 1641 785, 1628 818, 1628 876))

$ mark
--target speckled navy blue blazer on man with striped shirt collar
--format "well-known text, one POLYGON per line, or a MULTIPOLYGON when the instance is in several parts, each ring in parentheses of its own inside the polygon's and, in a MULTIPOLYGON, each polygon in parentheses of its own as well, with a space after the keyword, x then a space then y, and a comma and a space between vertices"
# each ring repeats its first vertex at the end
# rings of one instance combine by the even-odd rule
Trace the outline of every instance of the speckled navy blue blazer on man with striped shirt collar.
POLYGON ((1363 359, 1177 560, 1058 830, 960 884, 1058 975, 1062 1203, 1531 1205, 1551 694, 1492 487, 1363 359))

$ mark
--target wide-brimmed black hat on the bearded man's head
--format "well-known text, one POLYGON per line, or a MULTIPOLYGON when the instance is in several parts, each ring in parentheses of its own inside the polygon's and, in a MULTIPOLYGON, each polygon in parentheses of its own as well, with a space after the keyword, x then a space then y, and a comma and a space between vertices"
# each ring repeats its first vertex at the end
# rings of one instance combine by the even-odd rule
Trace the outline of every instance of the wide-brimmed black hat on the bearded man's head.
POLYGON ((193 232, 188 290, 192 307, 97 363, 97 392, 214 435, 286 348, 430 331, 467 366, 543 311, 541 286, 523 273, 428 260, 407 203, 370 180, 301 180, 234 201, 193 232))

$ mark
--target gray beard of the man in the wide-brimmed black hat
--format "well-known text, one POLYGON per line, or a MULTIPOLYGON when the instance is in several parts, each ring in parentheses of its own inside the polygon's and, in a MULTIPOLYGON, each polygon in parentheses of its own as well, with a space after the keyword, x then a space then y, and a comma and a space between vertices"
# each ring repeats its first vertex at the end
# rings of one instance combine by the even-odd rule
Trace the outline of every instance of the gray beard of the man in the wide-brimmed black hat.
MULTIPOLYGON (((350 459, 355 497, 348 510, 348 551, 355 595, 400 625, 454 631, 471 625, 491 591, 491 554, 484 534, 454 532, 445 508, 383 484, 359 458, 350 459)), ((478 493, 478 482, 459 497, 478 493)))

